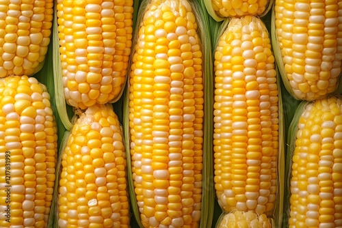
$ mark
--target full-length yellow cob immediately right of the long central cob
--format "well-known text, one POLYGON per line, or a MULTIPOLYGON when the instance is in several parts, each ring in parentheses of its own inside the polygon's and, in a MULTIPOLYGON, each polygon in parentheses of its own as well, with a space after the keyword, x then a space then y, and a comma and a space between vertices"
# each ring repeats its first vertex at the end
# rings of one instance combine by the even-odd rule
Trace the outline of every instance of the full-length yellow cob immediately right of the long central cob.
POLYGON ((226 212, 272 212, 277 189, 278 90, 259 18, 232 18, 215 52, 215 188, 226 212))

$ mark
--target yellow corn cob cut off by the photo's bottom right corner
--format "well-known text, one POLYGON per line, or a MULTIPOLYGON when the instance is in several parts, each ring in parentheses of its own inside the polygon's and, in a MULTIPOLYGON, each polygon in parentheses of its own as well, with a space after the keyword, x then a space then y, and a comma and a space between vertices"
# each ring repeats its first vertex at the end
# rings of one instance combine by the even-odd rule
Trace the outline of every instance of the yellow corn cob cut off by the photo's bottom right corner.
POLYGON ((299 115, 289 227, 342 227, 342 100, 317 100, 299 115))

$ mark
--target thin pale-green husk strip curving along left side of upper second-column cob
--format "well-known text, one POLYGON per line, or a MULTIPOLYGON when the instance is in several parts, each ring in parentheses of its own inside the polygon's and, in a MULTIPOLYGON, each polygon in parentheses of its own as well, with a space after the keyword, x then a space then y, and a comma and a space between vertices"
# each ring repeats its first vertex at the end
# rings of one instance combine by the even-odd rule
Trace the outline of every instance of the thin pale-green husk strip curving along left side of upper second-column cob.
POLYGON ((58 115, 66 130, 71 130, 73 124, 68 116, 66 108, 66 100, 64 96, 64 87, 62 82, 62 66, 60 59, 60 40, 58 38, 58 24, 57 24, 57 0, 55 1, 54 15, 53 15, 53 33, 52 33, 52 53, 53 53, 53 81, 55 83, 55 106, 57 107, 58 115))

